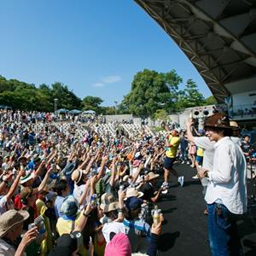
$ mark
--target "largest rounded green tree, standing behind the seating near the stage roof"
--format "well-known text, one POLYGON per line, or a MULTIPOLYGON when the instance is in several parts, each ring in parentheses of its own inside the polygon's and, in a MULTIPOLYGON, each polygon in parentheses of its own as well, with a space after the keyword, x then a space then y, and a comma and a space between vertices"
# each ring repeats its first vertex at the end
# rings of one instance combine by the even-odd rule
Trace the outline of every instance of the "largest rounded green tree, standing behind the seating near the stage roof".
POLYGON ((141 117, 152 117, 160 108, 172 111, 177 102, 178 84, 181 82, 175 70, 157 73, 144 69, 135 75, 131 92, 121 102, 120 109, 141 117))

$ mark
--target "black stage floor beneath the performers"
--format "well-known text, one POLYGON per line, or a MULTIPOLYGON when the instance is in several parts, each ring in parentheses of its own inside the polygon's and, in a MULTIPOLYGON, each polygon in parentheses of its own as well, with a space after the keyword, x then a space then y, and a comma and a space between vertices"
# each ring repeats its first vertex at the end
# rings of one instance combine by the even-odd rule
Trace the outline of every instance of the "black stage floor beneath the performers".
MULTIPOLYGON (((184 175, 184 185, 181 188, 177 184, 177 178, 171 176, 169 193, 161 195, 158 203, 165 216, 160 237, 160 255, 211 255, 207 239, 207 216, 203 213, 205 201, 201 192, 201 183, 192 178, 195 170, 191 167, 187 165, 174 167, 179 175, 184 175)), ((245 216, 237 224, 243 252, 246 256, 255 256, 256 226, 253 226, 249 216, 245 216)))

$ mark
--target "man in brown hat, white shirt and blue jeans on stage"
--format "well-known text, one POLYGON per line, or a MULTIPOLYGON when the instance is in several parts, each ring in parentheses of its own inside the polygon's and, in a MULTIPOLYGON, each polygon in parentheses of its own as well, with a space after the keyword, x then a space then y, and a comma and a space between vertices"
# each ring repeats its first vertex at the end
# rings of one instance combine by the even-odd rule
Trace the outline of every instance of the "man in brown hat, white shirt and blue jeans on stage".
POLYGON ((214 144, 212 170, 198 168, 207 177, 208 235, 212 255, 242 255, 236 217, 247 211, 246 160, 230 136, 229 118, 214 113, 205 121, 206 135, 214 144))

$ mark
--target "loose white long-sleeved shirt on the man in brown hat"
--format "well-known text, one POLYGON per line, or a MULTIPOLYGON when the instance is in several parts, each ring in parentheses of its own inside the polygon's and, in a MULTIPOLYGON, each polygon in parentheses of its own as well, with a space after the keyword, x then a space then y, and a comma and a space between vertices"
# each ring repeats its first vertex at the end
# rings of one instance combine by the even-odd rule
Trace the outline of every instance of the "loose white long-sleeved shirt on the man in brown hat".
POLYGON ((214 148, 213 169, 208 172, 207 204, 221 200, 230 212, 242 214, 247 211, 244 155, 230 137, 221 138, 214 148))

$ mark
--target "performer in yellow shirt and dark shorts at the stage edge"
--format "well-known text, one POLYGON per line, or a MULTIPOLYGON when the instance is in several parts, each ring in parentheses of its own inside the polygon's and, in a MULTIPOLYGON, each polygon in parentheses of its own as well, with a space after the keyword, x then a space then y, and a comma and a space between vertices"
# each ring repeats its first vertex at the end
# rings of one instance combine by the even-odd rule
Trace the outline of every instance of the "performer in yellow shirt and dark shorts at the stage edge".
POLYGON ((166 137, 166 158, 165 158, 165 163, 164 163, 164 183, 162 184, 162 193, 166 194, 168 192, 169 184, 168 184, 168 179, 169 179, 169 174, 172 172, 176 177, 177 181, 183 186, 184 182, 184 177, 178 177, 177 171, 173 169, 173 163, 176 160, 176 155, 177 155, 177 148, 180 144, 180 138, 178 136, 178 131, 176 129, 173 129, 171 131, 171 134, 169 134, 166 137))

